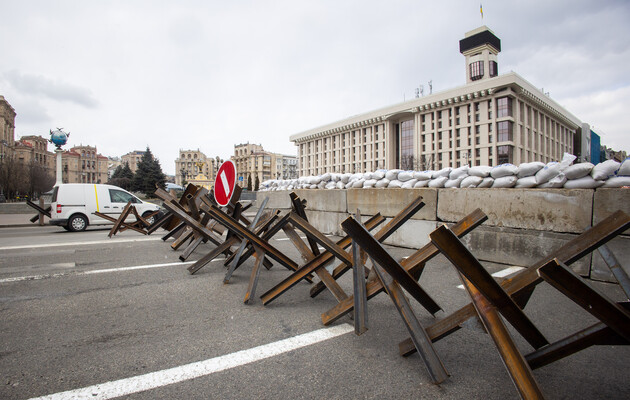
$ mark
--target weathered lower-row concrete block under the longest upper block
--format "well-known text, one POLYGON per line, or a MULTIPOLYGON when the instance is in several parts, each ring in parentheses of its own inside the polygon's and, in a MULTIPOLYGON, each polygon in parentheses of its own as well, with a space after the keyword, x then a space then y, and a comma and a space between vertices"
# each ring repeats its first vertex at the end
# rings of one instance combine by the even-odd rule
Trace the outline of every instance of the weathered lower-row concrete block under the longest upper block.
MULTIPOLYGON (((464 236, 462 242, 481 261, 528 267, 576 236, 484 225, 464 236)), ((591 255, 574 262, 571 268, 582 276, 588 276, 591 255)))

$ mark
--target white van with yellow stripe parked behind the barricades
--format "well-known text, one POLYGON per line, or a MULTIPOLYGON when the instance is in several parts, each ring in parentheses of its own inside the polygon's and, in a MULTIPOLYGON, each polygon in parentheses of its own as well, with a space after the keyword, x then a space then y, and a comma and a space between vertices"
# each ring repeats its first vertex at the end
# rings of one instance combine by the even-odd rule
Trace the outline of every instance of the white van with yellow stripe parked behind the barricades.
POLYGON ((94 212, 118 219, 129 201, 143 217, 160 209, 118 186, 64 183, 53 188, 50 224, 62 226, 72 232, 84 231, 88 225, 111 224, 110 221, 94 215, 94 212))

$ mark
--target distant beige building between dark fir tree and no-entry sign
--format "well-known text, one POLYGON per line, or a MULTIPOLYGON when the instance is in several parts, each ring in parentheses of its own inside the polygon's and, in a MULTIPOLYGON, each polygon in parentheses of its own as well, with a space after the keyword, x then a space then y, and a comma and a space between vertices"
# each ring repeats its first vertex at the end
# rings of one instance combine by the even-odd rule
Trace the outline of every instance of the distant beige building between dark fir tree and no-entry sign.
POLYGON ((208 157, 199 149, 180 149, 179 157, 175 159, 175 184, 184 186, 184 182, 190 182, 209 188, 214 184, 221 162, 219 157, 208 157))

